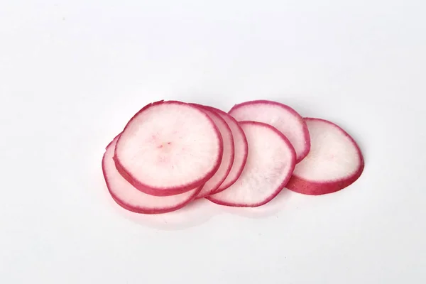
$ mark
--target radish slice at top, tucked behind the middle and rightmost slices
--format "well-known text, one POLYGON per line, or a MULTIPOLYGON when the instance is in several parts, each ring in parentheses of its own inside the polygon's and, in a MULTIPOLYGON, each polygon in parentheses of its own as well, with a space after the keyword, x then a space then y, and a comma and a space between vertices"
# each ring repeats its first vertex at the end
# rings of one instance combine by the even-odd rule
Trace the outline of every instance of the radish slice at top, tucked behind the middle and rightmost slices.
POLYGON ((307 126, 300 114, 279 102, 251 101, 236 104, 229 114, 237 121, 258 121, 270 124, 285 137, 295 148, 296 163, 299 163, 310 150, 310 137, 307 126))

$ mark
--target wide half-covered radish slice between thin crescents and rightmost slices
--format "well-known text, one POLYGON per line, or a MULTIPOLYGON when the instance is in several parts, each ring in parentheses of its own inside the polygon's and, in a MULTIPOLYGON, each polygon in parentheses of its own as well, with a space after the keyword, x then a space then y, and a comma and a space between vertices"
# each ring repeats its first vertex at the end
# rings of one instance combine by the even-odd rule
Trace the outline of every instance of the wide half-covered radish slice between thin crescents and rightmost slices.
POLYGON ((271 201, 285 187, 295 168, 296 154, 290 141, 273 126, 255 121, 240 123, 249 155, 234 185, 208 200, 233 207, 258 207, 271 201))

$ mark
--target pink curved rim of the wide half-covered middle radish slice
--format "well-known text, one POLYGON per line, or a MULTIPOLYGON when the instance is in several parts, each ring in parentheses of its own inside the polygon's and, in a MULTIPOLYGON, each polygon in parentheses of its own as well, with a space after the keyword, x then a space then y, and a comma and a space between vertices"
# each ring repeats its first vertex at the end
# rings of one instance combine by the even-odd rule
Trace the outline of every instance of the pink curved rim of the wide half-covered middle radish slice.
POLYGON ((213 203, 224 205, 224 206, 230 206, 230 207, 259 207, 273 200, 283 190, 285 185, 287 185, 287 182, 290 180, 291 176, 293 175, 293 170, 296 165, 296 152, 295 152, 295 149, 293 148, 293 145, 290 143, 290 141, 288 141, 288 138, 285 137, 284 134, 281 133, 281 131, 279 131, 278 129, 275 129, 275 127, 269 124, 265 124, 263 122, 258 122, 258 121, 239 121, 239 124, 241 125, 253 124, 253 125, 263 126, 277 133, 278 136, 280 136, 280 138, 283 139, 285 144, 288 146, 288 148, 290 148, 290 151, 292 152, 291 160, 290 160, 291 169, 288 171, 288 174, 285 176, 283 182, 281 182, 280 185, 278 185, 277 189, 266 200, 263 200, 262 202, 258 202, 255 204, 236 204, 236 203, 223 202, 221 200, 216 200, 212 196, 206 197, 206 199, 213 203))

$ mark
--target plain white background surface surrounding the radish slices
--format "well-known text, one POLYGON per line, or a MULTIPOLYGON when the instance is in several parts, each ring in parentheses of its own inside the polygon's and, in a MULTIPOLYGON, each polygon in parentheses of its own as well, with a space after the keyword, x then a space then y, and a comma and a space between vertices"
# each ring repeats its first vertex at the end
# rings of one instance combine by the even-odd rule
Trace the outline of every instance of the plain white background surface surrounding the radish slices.
POLYGON ((426 2, 1 1, 0 283, 426 283, 426 2), (104 146, 148 102, 276 99, 361 178, 268 207, 129 214, 104 146))

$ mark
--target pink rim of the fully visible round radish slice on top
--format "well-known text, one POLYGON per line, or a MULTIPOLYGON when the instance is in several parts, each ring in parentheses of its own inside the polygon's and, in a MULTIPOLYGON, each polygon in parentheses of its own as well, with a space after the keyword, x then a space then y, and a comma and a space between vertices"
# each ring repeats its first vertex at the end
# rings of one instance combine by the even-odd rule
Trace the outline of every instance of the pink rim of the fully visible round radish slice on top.
MULTIPOLYGON (((158 104, 183 104, 187 107, 191 107, 193 109, 196 109, 197 111, 200 112, 200 114, 202 114, 203 116, 205 116, 209 120, 210 124, 212 125, 212 128, 214 129, 214 132, 216 133, 217 139, 219 141, 219 151, 218 151, 217 157, 215 157, 216 161, 215 161, 215 165, 212 168, 212 170, 210 170, 208 173, 206 173, 203 177, 198 178, 197 180, 194 180, 192 182, 188 182, 185 185, 179 185, 179 186, 173 186, 173 187, 154 187, 154 186, 146 185, 145 183, 141 182, 140 180, 136 180, 136 178, 134 178, 133 175, 131 175, 129 173, 129 171, 126 170, 126 168, 124 168, 123 165, 121 165, 121 162, 120 162, 119 158, 117 158, 116 153, 114 154, 114 162, 116 163, 117 170, 123 176, 123 178, 125 178, 128 182, 130 182, 130 184, 133 185, 133 187, 136 187, 138 190, 141 190, 141 192, 144 192, 148 195, 155 195, 155 196, 178 195, 180 193, 193 190, 195 187, 204 184, 207 180, 209 180, 209 178, 212 178, 214 173, 216 173, 217 169, 220 166, 220 163, 222 162, 222 155, 223 155, 223 151, 224 151, 222 135, 220 134, 219 129, 217 129, 216 124, 214 124, 212 119, 210 119, 209 116, 204 113, 204 111, 198 109, 197 107, 193 107, 190 104, 187 104, 185 102, 164 101, 164 100, 161 100, 161 101, 158 101, 158 102, 153 102, 153 103, 147 104, 145 107, 143 107, 140 111, 138 111, 135 115, 132 116, 132 118, 126 124, 126 126, 124 127, 124 130, 122 132, 126 131, 127 127, 131 123, 131 121, 133 121, 133 119, 135 119, 136 116, 138 116, 138 114, 141 114, 141 112, 146 111, 146 109, 149 109, 150 107, 154 107, 158 104)), ((119 145, 120 139, 121 139, 121 136, 119 137, 119 140, 116 143, 115 151, 117 149, 117 146, 119 145)))

